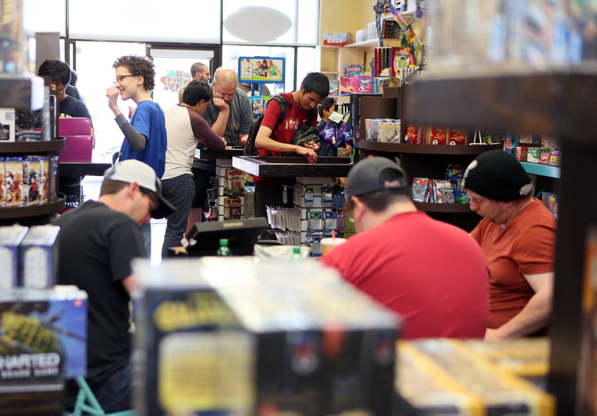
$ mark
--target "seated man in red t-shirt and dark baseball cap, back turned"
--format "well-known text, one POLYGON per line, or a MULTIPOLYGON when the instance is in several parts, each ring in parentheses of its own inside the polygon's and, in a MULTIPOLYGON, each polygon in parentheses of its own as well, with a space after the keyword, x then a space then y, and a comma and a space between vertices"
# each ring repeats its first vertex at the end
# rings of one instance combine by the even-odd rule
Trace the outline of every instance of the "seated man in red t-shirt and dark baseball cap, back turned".
POLYGON ((358 234, 321 262, 400 313, 405 339, 482 338, 489 274, 475 240, 417 211, 407 176, 389 159, 357 163, 345 193, 358 234))

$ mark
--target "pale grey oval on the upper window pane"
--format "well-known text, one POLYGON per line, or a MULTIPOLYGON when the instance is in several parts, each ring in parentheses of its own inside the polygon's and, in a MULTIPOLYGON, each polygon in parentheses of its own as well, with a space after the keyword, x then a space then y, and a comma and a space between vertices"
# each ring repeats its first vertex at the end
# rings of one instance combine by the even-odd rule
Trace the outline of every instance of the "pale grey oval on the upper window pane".
POLYGON ((241 7, 224 20, 230 35, 247 42, 275 41, 292 26, 286 14, 263 6, 241 7))

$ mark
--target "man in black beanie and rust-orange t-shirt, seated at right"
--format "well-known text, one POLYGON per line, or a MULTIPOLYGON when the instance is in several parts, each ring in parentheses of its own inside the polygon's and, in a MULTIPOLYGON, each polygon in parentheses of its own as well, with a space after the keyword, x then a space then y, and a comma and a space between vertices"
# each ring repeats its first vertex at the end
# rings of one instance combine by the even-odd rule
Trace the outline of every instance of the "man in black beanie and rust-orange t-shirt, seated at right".
POLYGON ((509 153, 482 153, 464 172, 470 209, 483 219, 470 233, 490 271, 485 339, 546 334, 553 296, 556 219, 533 198, 531 179, 509 153))

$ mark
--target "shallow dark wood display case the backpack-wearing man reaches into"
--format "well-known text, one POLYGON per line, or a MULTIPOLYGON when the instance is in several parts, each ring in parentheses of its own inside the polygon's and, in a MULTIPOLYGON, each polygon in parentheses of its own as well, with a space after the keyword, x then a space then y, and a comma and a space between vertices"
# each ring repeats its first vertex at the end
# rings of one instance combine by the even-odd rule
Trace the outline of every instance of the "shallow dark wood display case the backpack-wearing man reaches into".
POLYGON ((317 163, 312 164, 305 157, 238 156, 232 158, 232 166, 264 178, 344 177, 352 163, 350 157, 319 157, 317 163))

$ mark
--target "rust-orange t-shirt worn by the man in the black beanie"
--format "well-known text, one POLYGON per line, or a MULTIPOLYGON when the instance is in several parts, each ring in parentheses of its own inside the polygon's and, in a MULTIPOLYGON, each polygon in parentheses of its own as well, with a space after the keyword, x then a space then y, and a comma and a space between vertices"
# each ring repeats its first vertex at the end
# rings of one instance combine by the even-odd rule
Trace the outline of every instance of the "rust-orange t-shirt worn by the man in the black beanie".
POLYGON ((523 275, 553 272, 556 219, 535 198, 504 228, 482 219, 470 235, 481 244, 490 272, 488 327, 499 328, 534 294, 523 275))

